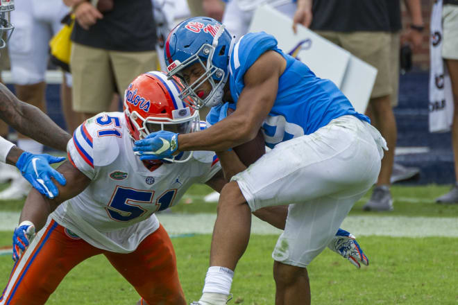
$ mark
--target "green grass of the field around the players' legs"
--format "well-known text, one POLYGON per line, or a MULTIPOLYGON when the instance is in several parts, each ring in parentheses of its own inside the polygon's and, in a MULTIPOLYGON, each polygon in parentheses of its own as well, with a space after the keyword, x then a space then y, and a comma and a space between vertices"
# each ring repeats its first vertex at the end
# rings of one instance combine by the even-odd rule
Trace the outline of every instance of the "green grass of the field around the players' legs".
MULTIPOLYGON (((362 212, 366 195, 355 204, 350 216, 371 216, 371 219, 407 216, 412 223, 414 219, 425 218, 452 220, 452 224, 456 220, 451 229, 457 232, 458 205, 434 204, 434 198, 448 189, 433 185, 393 186, 395 211, 362 212)), ((180 204, 171 208, 171 215, 214 214, 216 204, 203 202, 203 195, 208 192, 206 186, 194 186, 180 204)), ((0 215, 2 211, 20 211, 22 204, 22 200, 0 202, 0 215)), ((434 229, 428 225, 425 222, 413 229, 434 229)), ((0 232, 0 246, 10 245, 11 236, 12 232, 0 232)), ((251 236, 248 250, 235 272, 234 299, 230 304, 273 304, 271 251, 277 237, 251 236)), ((172 241, 187 299, 196 300, 208 266, 211 235, 190 234, 172 241)), ((359 233, 358 241, 370 260, 367 268, 357 270, 329 250, 309 266, 314 304, 458 304, 458 234, 412 238, 359 233)), ((11 267, 10 256, 0 256, 0 286, 6 285, 11 267)), ((135 290, 105 257, 96 256, 74 268, 47 304, 135 304, 137 299, 135 290)))

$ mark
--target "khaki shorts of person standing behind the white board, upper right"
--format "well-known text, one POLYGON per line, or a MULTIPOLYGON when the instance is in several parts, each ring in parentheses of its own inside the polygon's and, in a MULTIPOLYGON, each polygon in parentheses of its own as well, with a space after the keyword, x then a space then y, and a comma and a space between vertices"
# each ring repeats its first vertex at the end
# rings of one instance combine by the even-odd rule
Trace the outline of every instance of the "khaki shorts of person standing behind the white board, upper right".
POLYGON ((363 31, 340 33, 325 30, 317 30, 316 33, 341 46, 378 70, 371 98, 379 98, 391 94, 392 89, 389 79, 391 77, 389 63, 391 33, 363 31))

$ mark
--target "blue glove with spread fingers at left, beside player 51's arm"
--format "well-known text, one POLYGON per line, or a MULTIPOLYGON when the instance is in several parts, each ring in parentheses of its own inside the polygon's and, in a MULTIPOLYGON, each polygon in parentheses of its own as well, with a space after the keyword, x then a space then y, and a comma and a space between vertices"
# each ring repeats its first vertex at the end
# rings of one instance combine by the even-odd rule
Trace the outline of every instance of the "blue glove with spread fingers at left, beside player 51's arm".
POLYGON ((57 180, 61 185, 65 185, 67 180, 49 164, 59 163, 65 160, 65 157, 53 157, 51 155, 34 155, 24 152, 17 159, 16 167, 19 168, 22 175, 32 186, 48 198, 54 198, 59 195, 58 188, 54 185, 51 177, 57 180))

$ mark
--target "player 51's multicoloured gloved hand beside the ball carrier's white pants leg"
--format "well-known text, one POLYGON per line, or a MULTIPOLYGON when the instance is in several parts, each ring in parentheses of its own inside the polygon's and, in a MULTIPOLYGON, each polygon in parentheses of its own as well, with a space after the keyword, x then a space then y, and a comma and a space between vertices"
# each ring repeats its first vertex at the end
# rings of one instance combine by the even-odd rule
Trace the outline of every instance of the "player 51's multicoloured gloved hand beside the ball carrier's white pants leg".
POLYGON ((343 256, 344 259, 348 259, 358 269, 361 267, 359 263, 369 265, 367 256, 359 247, 356 237, 344 229, 337 230, 336 235, 328 244, 328 248, 343 256))

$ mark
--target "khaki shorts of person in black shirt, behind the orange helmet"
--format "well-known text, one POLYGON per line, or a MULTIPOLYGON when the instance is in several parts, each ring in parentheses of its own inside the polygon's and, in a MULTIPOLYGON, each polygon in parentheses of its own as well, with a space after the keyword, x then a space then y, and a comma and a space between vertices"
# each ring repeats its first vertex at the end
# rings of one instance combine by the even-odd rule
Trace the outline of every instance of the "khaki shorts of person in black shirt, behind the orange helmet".
POLYGON ((121 52, 71 44, 73 110, 97 114, 108 111, 113 93, 121 98, 132 80, 157 67, 155 51, 121 52))

